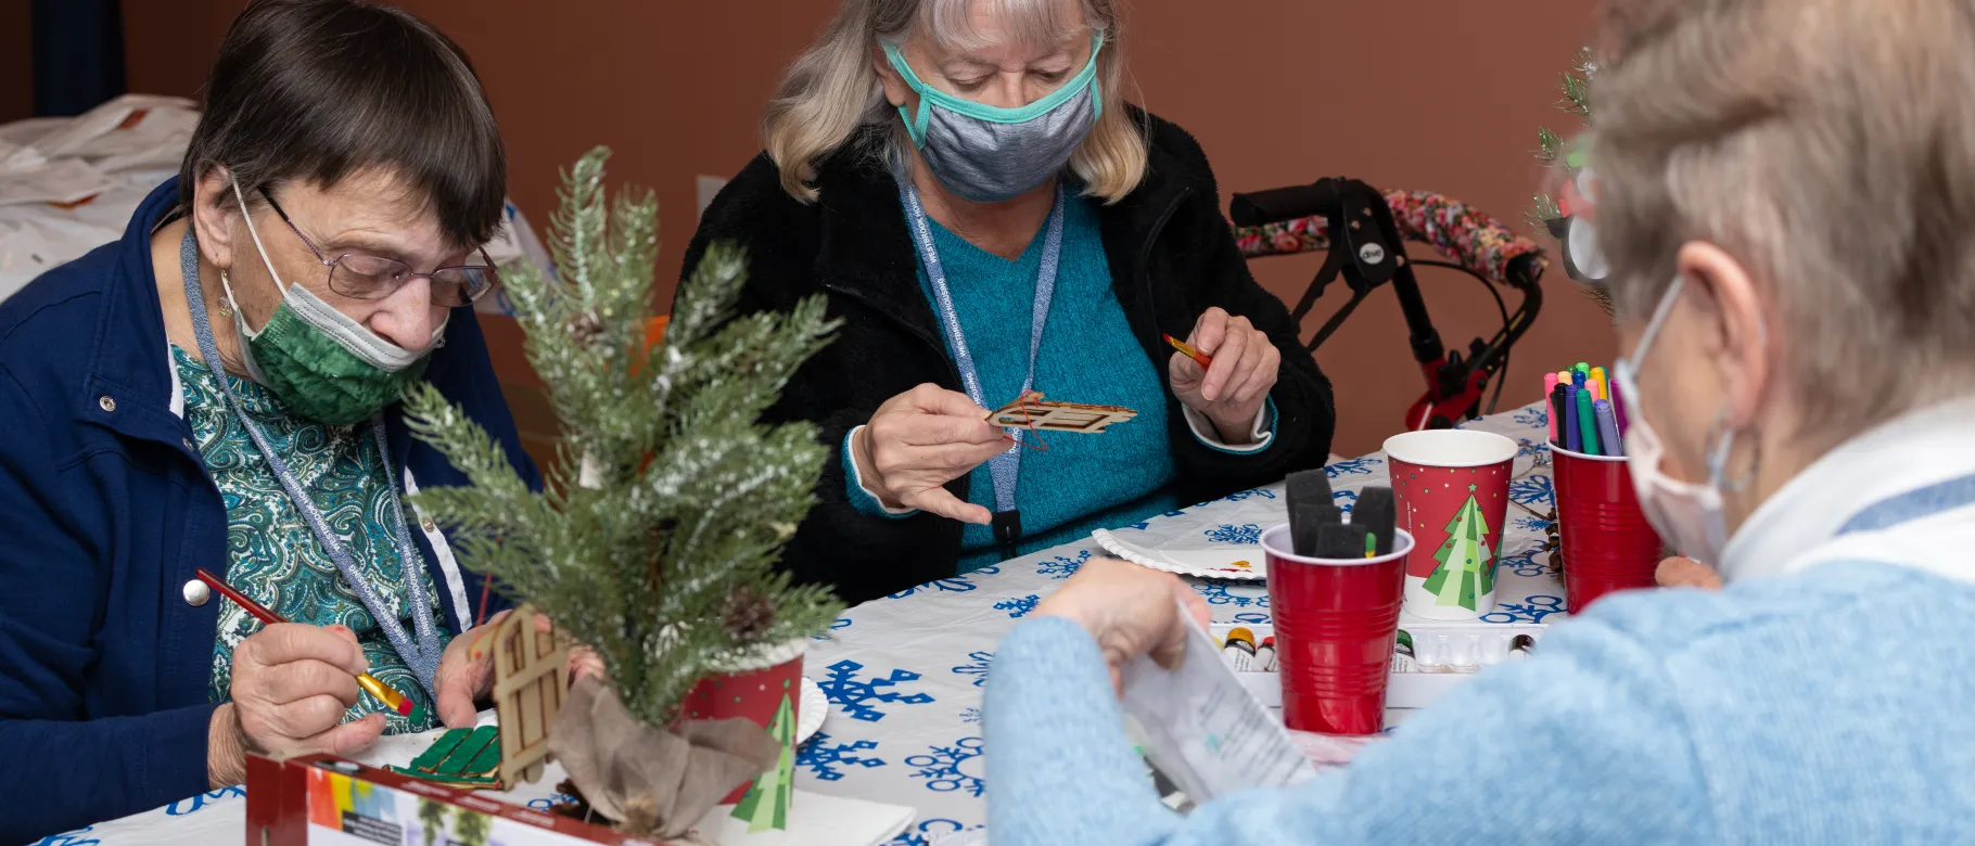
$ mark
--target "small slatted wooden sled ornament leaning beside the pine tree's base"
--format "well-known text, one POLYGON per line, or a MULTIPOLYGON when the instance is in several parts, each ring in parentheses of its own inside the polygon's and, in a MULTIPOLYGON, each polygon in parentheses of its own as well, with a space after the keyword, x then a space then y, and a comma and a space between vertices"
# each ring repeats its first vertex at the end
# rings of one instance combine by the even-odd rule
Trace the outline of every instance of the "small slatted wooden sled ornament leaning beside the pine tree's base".
POLYGON ((535 609, 521 605, 494 629, 494 710, 500 714, 500 783, 541 779, 549 726, 569 690, 569 649, 555 631, 539 631, 535 609))

